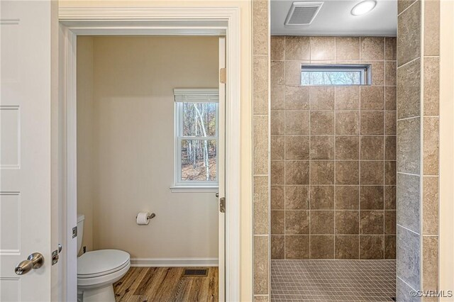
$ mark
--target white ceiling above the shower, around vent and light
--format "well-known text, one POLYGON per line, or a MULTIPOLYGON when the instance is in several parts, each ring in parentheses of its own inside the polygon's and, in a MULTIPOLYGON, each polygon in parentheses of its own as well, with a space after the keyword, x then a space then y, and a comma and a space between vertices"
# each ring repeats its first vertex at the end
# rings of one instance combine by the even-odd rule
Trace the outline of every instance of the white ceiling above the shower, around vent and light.
POLYGON ((397 33, 397 0, 377 0, 375 9, 362 16, 350 13, 353 6, 362 0, 326 0, 310 25, 284 26, 287 13, 295 1, 271 0, 272 35, 395 36, 397 33))

